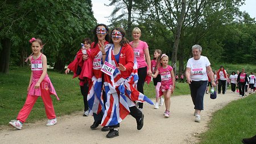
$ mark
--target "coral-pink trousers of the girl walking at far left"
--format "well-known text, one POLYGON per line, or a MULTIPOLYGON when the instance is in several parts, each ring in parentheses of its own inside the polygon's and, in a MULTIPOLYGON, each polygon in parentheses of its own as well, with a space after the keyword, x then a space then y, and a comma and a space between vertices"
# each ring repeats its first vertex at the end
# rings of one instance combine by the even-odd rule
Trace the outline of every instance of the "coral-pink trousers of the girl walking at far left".
MULTIPOLYGON (((46 84, 44 84, 44 81, 42 83, 40 83, 40 90, 41 90, 41 98, 44 103, 44 108, 46 109, 46 116, 48 119, 53 119, 56 117, 56 115, 54 112, 50 92, 48 90, 48 87, 46 88, 43 86, 46 86, 46 84)), ((26 102, 23 105, 23 108, 19 111, 17 120, 19 120, 22 123, 26 121, 28 115, 30 115, 30 112, 31 112, 36 100, 38 100, 38 97, 39 96, 35 96, 35 95, 27 95, 26 102)))

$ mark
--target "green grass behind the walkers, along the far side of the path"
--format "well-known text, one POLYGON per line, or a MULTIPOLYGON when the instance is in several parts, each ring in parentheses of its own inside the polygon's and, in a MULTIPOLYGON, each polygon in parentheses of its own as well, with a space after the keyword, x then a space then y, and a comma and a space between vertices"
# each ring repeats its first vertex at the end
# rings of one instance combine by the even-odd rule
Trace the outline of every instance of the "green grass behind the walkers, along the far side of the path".
MULTIPOLYGON (((31 70, 28 67, 12 67, 9 74, 0 74, 0 125, 6 125, 18 115, 27 98, 27 86, 31 70)), ((58 101, 52 96, 53 106, 57 116, 69 115, 82 111, 83 100, 79 87, 79 80, 72 79, 72 74, 60 74, 48 71, 49 78, 60 98, 58 101)), ((155 98, 153 82, 144 84, 144 93, 148 98, 155 98)), ((176 83, 174 95, 190 94, 187 83, 176 83)), ((39 97, 32 109, 27 122, 46 119, 44 104, 39 97)))

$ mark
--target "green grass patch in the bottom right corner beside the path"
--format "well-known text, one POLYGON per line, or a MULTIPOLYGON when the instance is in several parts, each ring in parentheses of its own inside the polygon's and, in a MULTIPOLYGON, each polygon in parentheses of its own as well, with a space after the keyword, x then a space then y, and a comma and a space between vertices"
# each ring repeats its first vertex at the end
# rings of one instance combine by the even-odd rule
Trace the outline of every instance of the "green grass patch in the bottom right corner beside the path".
POLYGON ((256 94, 232 101, 213 114, 200 144, 241 143, 256 133, 256 94))

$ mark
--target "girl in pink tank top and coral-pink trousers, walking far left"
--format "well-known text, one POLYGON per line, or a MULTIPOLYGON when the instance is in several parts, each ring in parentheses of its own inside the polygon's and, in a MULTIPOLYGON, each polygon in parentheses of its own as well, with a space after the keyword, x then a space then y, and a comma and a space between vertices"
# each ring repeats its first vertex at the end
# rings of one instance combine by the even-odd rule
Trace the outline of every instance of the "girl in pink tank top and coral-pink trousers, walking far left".
POLYGON ((43 100, 46 116, 49 119, 46 126, 55 125, 57 122, 50 94, 55 95, 57 100, 59 100, 59 98, 47 75, 47 58, 41 53, 41 49, 43 48, 42 40, 33 37, 30 43, 33 55, 29 57, 31 76, 27 88, 27 99, 23 108, 19 111, 16 120, 9 122, 9 124, 16 129, 22 129, 22 124, 26 121, 28 115, 30 115, 39 96, 41 96, 43 100))

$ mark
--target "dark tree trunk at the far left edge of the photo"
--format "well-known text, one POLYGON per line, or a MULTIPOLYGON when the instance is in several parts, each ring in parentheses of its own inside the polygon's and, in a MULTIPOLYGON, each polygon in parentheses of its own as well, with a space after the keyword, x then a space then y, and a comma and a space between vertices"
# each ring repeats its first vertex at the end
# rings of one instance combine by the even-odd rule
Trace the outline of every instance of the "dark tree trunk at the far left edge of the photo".
POLYGON ((3 39, 1 41, 3 49, 0 52, 0 73, 9 73, 10 53, 11 53, 11 40, 3 39))

